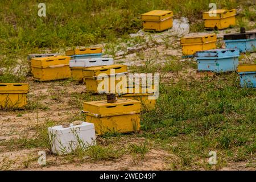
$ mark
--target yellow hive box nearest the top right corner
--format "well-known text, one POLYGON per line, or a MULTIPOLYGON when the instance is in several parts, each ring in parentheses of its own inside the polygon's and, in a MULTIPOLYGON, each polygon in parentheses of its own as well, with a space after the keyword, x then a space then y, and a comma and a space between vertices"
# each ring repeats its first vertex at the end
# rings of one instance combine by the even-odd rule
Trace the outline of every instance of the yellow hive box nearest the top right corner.
POLYGON ((212 13, 213 11, 203 13, 204 27, 206 29, 222 30, 236 25, 236 9, 216 10, 216 16, 212 16, 212 13))

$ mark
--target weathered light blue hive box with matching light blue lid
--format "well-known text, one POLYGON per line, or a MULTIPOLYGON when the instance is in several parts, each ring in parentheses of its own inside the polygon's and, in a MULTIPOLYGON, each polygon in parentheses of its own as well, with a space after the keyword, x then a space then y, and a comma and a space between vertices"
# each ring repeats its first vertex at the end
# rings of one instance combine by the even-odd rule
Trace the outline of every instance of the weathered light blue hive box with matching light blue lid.
POLYGON ((216 73, 236 71, 239 49, 212 49, 196 52, 197 71, 216 73))

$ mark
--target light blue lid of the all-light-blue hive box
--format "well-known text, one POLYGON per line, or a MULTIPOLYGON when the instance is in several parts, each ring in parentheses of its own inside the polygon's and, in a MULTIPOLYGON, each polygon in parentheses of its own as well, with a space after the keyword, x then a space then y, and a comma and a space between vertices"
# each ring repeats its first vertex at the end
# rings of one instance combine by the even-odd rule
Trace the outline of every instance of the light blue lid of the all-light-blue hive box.
POLYGON ((196 57, 199 59, 208 59, 210 57, 238 57, 240 56, 239 49, 211 49, 208 51, 197 51, 196 57))

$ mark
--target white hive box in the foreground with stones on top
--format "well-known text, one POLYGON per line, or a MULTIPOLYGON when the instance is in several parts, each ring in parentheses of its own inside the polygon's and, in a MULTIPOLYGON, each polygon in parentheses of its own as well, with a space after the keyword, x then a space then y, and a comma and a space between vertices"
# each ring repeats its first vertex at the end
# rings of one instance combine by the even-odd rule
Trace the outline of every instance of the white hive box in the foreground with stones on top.
POLYGON ((96 135, 93 123, 82 122, 81 125, 73 125, 64 128, 53 126, 48 128, 49 142, 53 154, 68 154, 76 150, 78 146, 86 148, 96 145, 96 135))

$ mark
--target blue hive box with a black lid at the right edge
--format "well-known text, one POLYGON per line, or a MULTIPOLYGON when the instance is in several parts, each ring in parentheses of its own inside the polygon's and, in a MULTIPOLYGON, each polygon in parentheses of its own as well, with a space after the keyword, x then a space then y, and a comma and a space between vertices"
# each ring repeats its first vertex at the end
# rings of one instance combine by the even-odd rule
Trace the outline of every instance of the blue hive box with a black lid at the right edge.
POLYGON ((256 51, 256 32, 240 32, 224 35, 226 48, 239 48, 240 52, 256 51))

